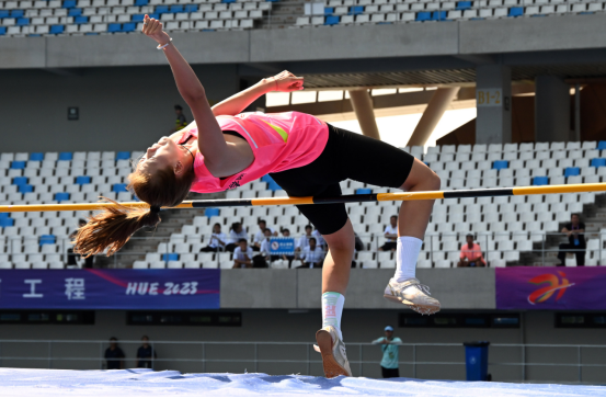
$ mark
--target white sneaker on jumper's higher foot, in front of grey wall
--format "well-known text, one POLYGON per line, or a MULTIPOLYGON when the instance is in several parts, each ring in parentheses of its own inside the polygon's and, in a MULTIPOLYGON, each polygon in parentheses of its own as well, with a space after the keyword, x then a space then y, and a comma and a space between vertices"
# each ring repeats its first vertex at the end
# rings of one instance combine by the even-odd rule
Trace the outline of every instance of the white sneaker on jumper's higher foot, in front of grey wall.
POLYGON ((385 288, 384 297, 403 304, 421 315, 433 315, 441 309, 439 302, 431 297, 430 288, 414 278, 404 282, 391 278, 385 288))

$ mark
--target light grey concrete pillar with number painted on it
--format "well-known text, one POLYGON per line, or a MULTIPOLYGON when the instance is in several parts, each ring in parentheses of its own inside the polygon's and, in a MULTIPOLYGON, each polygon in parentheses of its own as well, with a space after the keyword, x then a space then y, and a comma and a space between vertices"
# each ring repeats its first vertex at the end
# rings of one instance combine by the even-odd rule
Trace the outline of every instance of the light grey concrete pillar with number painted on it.
POLYGON ((476 144, 512 141, 512 70, 502 65, 476 68, 476 144))

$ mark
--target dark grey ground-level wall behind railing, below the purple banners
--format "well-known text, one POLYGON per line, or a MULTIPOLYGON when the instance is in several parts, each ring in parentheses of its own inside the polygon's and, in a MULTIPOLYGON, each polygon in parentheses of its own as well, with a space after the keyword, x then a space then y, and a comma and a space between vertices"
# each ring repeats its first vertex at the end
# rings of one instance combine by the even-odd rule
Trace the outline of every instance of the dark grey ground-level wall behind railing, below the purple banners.
MULTIPOLYGON (((203 342, 230 342, 230 341, 261 341, 261 342, 304 342, 313 343, 313 336, 321 327, 321 312, 319 309, 299 312, 289 312, 284 309, 251 310, 243 309, 241 328, 203 328, 203 327, 139 327, 126 326, 126 314, 123 311, 98 311, 94 326, 5 326, 0 327, 0 340, 103 340, 116 337, 121 340, 136 340, 148 334, 156 341, 173 341, 178 344, 157 344, 159 355, 157 369, 176 369, 181 372, 254 372, 252 363, 239 360, 254 359, 252 345, 242 346, 233 344, 206 345, 206 359, 228 360, 220 364, 208 363, 203 367, 203 342), (179 343, 180 342, 180 343, 179 343), (198 342, 198 344, 184 344, 183 342, 198 342), (171 361, 174 359, 188 359, 192 362, 171 361), (229 361, 232 360, 232 361, 229 361), (197 361, 197 362, 196 362, 197 361)), ((343 314, 343 332, 348 344, 348 357, 352 361, 359 359, 359 349, 352 343, 369 342, 381 337, 386 325, 396 328, 396 336, 404 343, 432 344, 453 343, 453 348, 418 348, 416 359, 424 362, 462 362, 465 341, 484 340, 492 344, 604 344, 604 331, 599 329, 556 329, 553 328, 553 312, 526 312, 524 315, 524 329, 426 329, 426 328, 399 328, 398 316, 408 310, 359 310, 345 309, 343 314)), ((126 355, 134 357, 138 343, 122 343, 126 355)), ((2 367, 58 367, 58 368, 100 368, 101 362, 96 360, 106 348, 106 344, 92 343, 54 343, 52 353, 56 359, 49 363, 43 361, 0 361, 2 367), (67 361, 65 357, 93 357, 94 361, 67 361)), ((307 346, 310 350, 310 345, 307 346)), ((45 357, 48 345, 41 343, 0 343, 0 356, 38 356, 45 357)), ((295 363, 261 364, 256 371, 274 375, 284 374, 322 374, 319 364, 312 364, 307 368, 308 352, 300 345, 259 345, 258 356, 261 360, 293 360, 295 363)), ((363 349, 363 360, 370 361, 364 365, 365 377, 380 377, 379 361, 381 351, 377 346, 363 349)), ((585 349, 582 352, 585 363, 604 363, 604 350, 585 349)), ((319 361, 318 354, 309 351, 309 357, 319 361)), ((411 361, 412 350, 400 349, 400 360, 411 361)), ((564 348, 528 349, 526 360, 534 363, 576 363, 576 350, 564 348)), ((490 349, 491 363, 521 362, 522 350, 514 348, 490 349)), ((135 367, 135 361, 126 362, 127 367, 135 367)), ((412 366, 402 365, 401 374, 412 377, 412 366)), ((359 366, 353 366, 354 375, 361 375, 359 366)), ((519 380, 522 369, 511 366, 491 366, 490 373, 494 380, 519 380)), ((527 366, 527 379, 575 382, 578 372, 575 368, 564 366, 527 366)), ((425 379, 465 379, 465 367, 457 366, 418 366, 416 377, 425 379)), ((585 383, 606 383, 603 368, 585 367, 583 369, 585 383)))

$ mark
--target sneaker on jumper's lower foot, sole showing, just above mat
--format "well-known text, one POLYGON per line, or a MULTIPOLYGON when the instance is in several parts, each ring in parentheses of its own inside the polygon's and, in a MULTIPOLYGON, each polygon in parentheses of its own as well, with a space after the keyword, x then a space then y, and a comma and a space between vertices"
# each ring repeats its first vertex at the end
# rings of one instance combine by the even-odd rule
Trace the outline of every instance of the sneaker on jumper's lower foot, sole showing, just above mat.
POLYGON ((328 326, 319 330, 316 333, 316 341, 318 345, 313 345, 313 350, 322 354, 322 365, 327 378, 352 377, 345 343, 339 338, 336 329, 328 326))

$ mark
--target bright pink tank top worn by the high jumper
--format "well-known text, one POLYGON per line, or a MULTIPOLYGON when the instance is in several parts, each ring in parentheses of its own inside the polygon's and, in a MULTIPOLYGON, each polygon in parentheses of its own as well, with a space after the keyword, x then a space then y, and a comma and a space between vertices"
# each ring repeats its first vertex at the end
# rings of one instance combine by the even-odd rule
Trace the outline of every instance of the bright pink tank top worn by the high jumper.
MULTIPOLYGON (((318 159, 329 139, 329 129, 324 122, 299 112, 250 112, 237 116, 219 116, 217 122, 221 130, 237 132, 249 143, 254 161, 235 175, 218 179, 210 174, 204 164, 204 156, 198 152, 194 162, 196 179, 192 184, 192 192, 233 190, 267 173, 307 166, 318 159)), ((185 128, 179 144, 192 136, 198 136, 195 123, 185 128)))

